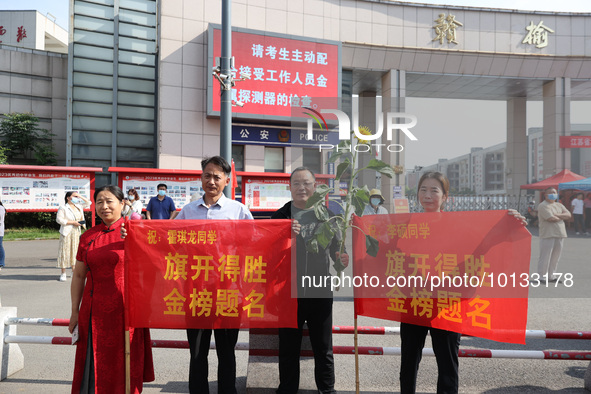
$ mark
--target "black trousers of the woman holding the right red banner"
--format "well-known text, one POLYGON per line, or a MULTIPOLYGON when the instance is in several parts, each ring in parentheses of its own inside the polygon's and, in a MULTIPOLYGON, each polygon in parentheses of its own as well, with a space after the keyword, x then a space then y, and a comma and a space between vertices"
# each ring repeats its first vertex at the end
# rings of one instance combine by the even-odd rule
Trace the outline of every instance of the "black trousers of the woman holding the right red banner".
POLYGON ((400 324, 402 340, 402 359, 400 366, 400 392, 414 394, 417 385, 417 372, 421 362, 427 332, 431 331, 433 351, 437 359, 437 393, 452 394, 458 392, 458 351, 461 334, 457 332, 400 324))

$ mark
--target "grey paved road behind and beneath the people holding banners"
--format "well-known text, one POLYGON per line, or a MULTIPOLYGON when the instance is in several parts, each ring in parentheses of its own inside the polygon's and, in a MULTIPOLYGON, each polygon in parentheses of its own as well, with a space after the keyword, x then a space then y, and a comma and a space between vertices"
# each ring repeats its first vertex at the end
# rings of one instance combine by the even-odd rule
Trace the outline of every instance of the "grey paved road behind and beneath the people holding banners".
MULTIPOLYGON (((2 305, 17 306, 20 317, 68 318, 70 311, 69 281, 58 282, 55 268, 57 241, 5 242, 7 267, 0 275, 2 305)), ((571 272, 577 283, 591 289, 591 237, 569 238, 560 267, 571 272)), ((532 241, 532 268, 538 257, 538 239, 532 241)), ((532 269, 533 271, 533 269, 532 269)), ((352 325, 352 303, 347 294, 338 294, 335 324, 352 325)), ((529 329, 591 330, 591 297, 565 289, 531 291, 528 313, 529 329), (576 296, 577 298, 573 298, 576 296)), ((361 317, 359 325, 397 326, 398 323, 361 317)), ((65 328, 20 326, 20 335, 66 336, 65 328)), ((183 331, 152 330, 156 339, 185 339, 183 331)), ((242 332, 240 342, 248 341, 242 332)), ((428 341, 429 343, 429 341, 428 341)), ((335 336, 335 344, 352 345, 349 335, 335 336)), ((361 336, 360 345, 399 346, 397 336, 361 336)), ((430 347, 430 344, 428 345, 430 347)), ((462 339, 463 348, 578 350, 591 351, 591 341, 529 340, 527 345, 508 345, 478 338, 462 339)), ((21 345, 25 368, 0 382, 0 393, 67 393, 70 390, 74 363, 71 346, 21 345)), ((145 393, 187 393, 188 351, 154 349, 156 381, 145 386, 145 393)), ((237 352, 239 393, 246 386, 246 352, 237 352)), ((397 356, 362 356, 362 392, 398 392, 400 358, 397 356)), ((335 356, 337 389, 354 392, 354 363, 351 356, 335 356)), ((216 376, 215 357, 210 357, 210 377, 216 376)), ((462 393, 588 393, 583 389, 583 376, 588 361, 460 359, 460 392, 462 393)), ((303 377, 312 379, 312 377, 303 377)), ((216 392, 216 383, 211 384, 216 392)), ((427 357, 421 363, 418 392, 436 391, 436 364, 427 357)))

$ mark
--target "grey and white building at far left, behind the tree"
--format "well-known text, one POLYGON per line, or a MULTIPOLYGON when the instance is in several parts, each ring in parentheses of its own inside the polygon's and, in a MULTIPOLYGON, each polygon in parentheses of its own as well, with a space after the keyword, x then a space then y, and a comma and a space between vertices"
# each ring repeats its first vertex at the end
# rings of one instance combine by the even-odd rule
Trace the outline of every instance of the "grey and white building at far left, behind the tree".
POLYGON ((0 114, 32 113, 66 161, 68 34, 37 11, 0 11, 0 114))

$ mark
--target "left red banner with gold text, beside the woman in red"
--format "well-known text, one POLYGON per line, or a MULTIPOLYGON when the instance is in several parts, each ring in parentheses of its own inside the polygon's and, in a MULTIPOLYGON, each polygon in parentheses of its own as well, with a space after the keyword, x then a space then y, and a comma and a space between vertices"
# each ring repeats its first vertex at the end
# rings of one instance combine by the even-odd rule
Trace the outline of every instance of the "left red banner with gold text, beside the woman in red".
POLYGON ((131 327, 297 327, 289 220, 126 222, 131 327))

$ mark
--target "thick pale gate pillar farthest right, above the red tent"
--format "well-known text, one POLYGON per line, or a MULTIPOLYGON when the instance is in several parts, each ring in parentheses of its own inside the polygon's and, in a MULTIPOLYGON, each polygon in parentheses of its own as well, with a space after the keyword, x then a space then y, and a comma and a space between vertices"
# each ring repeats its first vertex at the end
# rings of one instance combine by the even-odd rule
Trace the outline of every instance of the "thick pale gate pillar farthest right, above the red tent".
POLYGON ((559 147, 559 137, 570 135, 570 78, 544 84, 544 178, 571 167, 570 149, 559 147))

